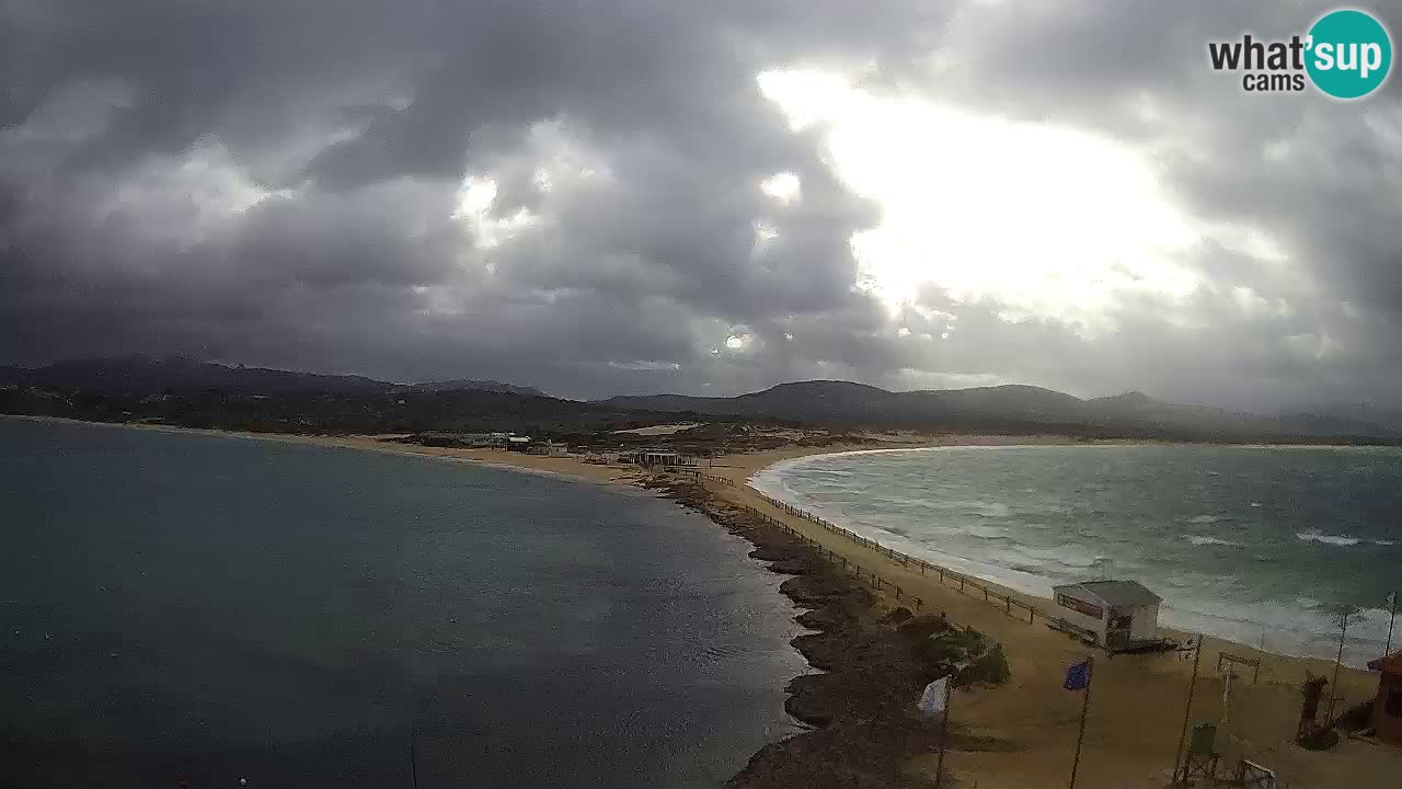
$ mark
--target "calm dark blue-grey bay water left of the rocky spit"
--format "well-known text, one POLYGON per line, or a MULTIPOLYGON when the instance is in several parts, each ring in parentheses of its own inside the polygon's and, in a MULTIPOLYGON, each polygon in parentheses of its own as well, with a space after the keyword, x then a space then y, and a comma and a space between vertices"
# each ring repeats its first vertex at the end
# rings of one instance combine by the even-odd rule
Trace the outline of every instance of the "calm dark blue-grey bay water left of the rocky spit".
POLYGON ((0 785, 715 786, 795 731, 781 578, 667 501, 0 420, 0 785))

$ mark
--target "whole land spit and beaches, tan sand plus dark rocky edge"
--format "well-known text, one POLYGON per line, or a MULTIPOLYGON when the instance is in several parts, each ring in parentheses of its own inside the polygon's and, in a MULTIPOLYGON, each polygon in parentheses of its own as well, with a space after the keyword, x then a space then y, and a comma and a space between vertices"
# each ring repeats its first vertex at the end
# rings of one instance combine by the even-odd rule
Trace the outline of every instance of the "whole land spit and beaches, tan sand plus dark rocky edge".
MULTIPOLYGON (((955 670, 958 661, 949 654, 921 658, 910 644, 938 637, 945 628, 967 628, 990 644, 997 643, 1011 671, 1007 682, 970 682, 953 692, 945 755, 945 772, 952 785, 980 789, 1066 785, 1080 727, 1081 694, 1064 691, 1063 675, 1067 665, 1091 654, 1096 657, 1095 696, 1077 786, 1159 788, 1169 783, 1189 698, 1190 660, 1176 653, 1106 660, 1103 653, 1046 628, 1042 618, 1029 623, 1025 616, 1009 615, 1009 606, 1002 602, 1016 601, 1019 608, 1014 611, 1025 611, 1022 606, 1046 611, 1052 605, 1047 599, 990 583, 981 587, 1002 595, 997 604, 981 592, 960 592, 956 576, 941 581, 939 576, 923 573, 880 546, 847 539, 775 507, 746 484, 754 473, 775 462, 813 453, 952 444, 1074 444, 1077 439, 900 435, 852 445, 787 445, 719 455, 694 469, 701 472, 695 475, 688 470, 653 473, 631 465, 600 463, 596 458, 586 462, 579 455, 422 446, 405 444, 402 437, 207 432, 426 455, 635 490, 662 490, 750 539, 756 545, 753 557, 768 562, 774 571, 794 576, 781 591, 806 609, 799 622, 816 630, 815 636, 796 639, 795 646, 820 674, 796 678, 789 685, 789 712, 815 730, 761 750, 732 786, 934 785, 939 734, 916 713, 914 702, 924 682, 955 670)), ((1164 635, 1186 637, 1171 630, 1164 635)), ((1206 637, 1202 649, 1200 674, 1192 687, 1193 720, 1213 720, 1221 713, 1224 679, 1216 671, 1221 653, 1260 661, 1259 679, 1238 678, 1232 688, 1230 727, 1218 736, 1224 762, 1251 758, 1272 768, 1291 788, 1396 786, 1402 775, 1402 751, 1396 748, 1350 738, 1326 751, 1294 744, 1300 685, 1307 677, 1330 677, 1330 661, 1262 653, 1214 637, 1206 637)), ((1375 687, 1374 674, 1345 668, 1335 688, 1339 709, 1371 698, 1375 687)))

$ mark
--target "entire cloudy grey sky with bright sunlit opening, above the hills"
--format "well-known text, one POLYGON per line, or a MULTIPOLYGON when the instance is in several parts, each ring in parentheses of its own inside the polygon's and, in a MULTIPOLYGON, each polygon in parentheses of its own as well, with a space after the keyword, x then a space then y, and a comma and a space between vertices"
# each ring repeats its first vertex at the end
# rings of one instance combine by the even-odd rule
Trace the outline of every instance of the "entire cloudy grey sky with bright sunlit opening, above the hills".
POLYGON ((0 0, 0 364, 1402 404, 1402 79, 1207 56, 1332 8, 0 0))

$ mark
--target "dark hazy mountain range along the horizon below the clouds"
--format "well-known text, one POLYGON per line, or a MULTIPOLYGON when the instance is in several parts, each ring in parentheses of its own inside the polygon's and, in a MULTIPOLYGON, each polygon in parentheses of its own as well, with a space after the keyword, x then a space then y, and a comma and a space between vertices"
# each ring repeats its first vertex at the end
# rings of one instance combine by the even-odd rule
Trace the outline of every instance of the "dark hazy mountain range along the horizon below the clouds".
MULTIPOLYGON (((1063 432, 1084 437, 1182 438, 1216 441, 1402 441, 1402 410, 1371 406, 1322 404, 1294 413, 1249 414, 1209 406, 1180 406, 1155 400, 1141 392, 1082 400, 1039 386, 984 386, 887 392, 845 380, 803 380, 781 383, 763 392, 736 397, 691 397, 684 394, 620 396, 582 403, 550 397, 544 392, 498 380, 454 379, 428 383, 391 383, 358 375, 320 375, 243 365, 223 365, 185 357, 95 358, 56 362, 39 368, 0 368, 0 387, 21 387, 27 399, 18 406, 0 406, 29 413, 42 406, 55 411, 52 397, 70 410, 94 409, 93 397, 108 399, 102 409, 118 413, 147 410, 147 402, 181 396, 199 397, 205 417, 236 406, 230 396, 278 400, 280 420, 318 423, 335 413, 335 424, 346 420, 394 424, 509 424, 513 418, 552 420, 566 424, 613 424, 625 417, 666 420, 712 417, 838 427, 843 430, 924 430, 946 432, 1063 432), (210 399, 217 392, 223 400, 210 399), (36 402, 42 393, 50 400, 36 402), (335 396, 339 410, 310 403, 335 396), (76 397, 76 399, 74 399, 76 397), (38 406, 36 406, 38 403, 38 406), (222 404, 220 404, 222 403, 222 404), (353 403, 359 406, 352 407, 353 403), (133 411, 136 409, 136 411, 133 411), (356 410, 359 409, 359 410, 356 410), (412 414, 400 416, 408 409, 412 414), (464 411, 463 409, 468 409, 464 411), (367 413, 370 416, 353 417, 367 413)), ((14 396, 10 403, 18 403, 14 396)), ((195 407, 195 406, 189 406, 195 407)), ((4 410, 0 409, 0 410, 4 410)), ((261 407, 268 413, 269 407, 261 407)), ((299 424, 300 424, 299 423, 299 424)), ((318 423, 320 424, 320 423, 318 423)), ((329 424, 324 427, 331 427, 329 424)))

